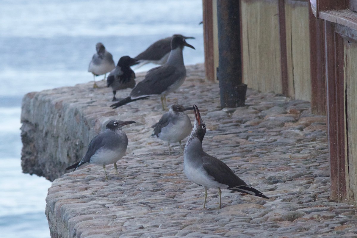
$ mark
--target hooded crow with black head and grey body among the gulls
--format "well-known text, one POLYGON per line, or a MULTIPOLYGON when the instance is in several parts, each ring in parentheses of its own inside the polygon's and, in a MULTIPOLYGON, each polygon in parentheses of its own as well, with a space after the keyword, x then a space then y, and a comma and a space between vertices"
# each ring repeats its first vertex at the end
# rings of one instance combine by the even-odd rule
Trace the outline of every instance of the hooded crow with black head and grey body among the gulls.
POLYGON ((115 69, 110 71, 107 77, 107 87, 111 87, 113 90, 113 101, 117 101, 115 98, 116 90, 135 87, 135 73, 130 69, 130 66, 138 63, 136 59, 123 56, 118 61, 115 69))

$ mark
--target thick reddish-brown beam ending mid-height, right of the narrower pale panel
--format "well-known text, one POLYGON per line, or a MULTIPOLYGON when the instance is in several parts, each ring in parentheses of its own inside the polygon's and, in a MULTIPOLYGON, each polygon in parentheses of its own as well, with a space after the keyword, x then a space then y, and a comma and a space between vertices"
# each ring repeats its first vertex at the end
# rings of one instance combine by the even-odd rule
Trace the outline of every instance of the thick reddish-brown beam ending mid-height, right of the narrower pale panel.
POLYGON ((316 19, 309 3, 311 111, 326 115, 325 23, 316 19))

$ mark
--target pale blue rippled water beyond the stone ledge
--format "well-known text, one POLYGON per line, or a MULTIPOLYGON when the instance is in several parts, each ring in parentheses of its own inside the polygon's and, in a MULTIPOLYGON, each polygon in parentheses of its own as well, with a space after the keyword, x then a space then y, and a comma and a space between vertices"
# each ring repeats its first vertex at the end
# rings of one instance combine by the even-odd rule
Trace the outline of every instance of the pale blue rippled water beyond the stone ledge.
POLYGON ((201 0, 0 0, 0 237, 50 237, 44 212, 51 183, 21 172, 23 95, 91 81, 99 41, 117 62, 172 34, 194 36, 185 64, 202 63, 200 21, 201 0))

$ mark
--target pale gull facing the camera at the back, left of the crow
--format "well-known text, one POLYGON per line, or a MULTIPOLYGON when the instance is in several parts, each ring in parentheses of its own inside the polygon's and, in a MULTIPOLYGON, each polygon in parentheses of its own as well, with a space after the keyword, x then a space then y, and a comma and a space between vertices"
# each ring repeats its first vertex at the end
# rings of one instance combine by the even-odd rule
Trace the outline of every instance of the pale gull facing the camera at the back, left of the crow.
POLYGON ((92 60, 89 63, 88 72, 93 74, 94 88, 97 88, 95 83, 95 76, 103 75, 104 79, 108 72, 115 68, 115 63, 113 61, 113 56, 108 51, 106 51, 104 45, 98 42, 95 46, 97 53, 93 55, 92 60))

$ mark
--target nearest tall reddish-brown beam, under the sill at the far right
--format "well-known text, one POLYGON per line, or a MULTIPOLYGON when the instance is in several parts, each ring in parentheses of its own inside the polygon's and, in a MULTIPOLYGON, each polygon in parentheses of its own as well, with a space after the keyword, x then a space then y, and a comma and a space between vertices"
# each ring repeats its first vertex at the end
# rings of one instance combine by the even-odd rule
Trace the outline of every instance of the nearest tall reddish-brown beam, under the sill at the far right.
POLYGON ((334 24, 325 21, 327 131, 330 149, 331 199, 345 201, 346 142, 345 85, 343 79, 343 38, 334 24))

